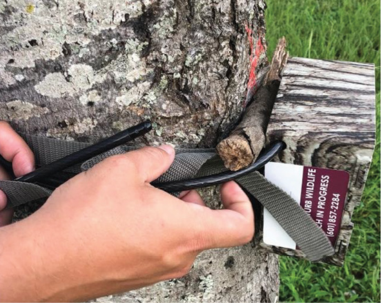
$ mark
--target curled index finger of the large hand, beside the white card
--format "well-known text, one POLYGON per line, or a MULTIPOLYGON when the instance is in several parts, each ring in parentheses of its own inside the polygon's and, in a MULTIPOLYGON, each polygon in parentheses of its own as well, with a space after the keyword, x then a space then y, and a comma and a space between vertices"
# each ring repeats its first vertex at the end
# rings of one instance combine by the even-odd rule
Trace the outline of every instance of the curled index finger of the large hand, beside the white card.
POLYGON ((199 208, 201 249, 239 246, 253 238, 254 213, 244 191, 235 182, 228 182, 221 187, 221 197, 225 209, 199 208))

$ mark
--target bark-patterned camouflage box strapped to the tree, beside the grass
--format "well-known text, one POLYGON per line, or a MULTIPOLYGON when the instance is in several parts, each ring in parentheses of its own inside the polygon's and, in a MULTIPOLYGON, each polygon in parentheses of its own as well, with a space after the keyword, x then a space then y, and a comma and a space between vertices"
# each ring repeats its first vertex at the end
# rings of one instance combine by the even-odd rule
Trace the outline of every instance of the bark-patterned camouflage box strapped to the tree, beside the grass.
MULTIPOLYGON (((268 141, 287 144, 278 162, 346 170, 351 175, 335 255, 342 265, 375 142, 373 64, 291 58, 287 62, 268 125, 268 141)), ((261 244, 267 251, 304 257, 261 244)))

